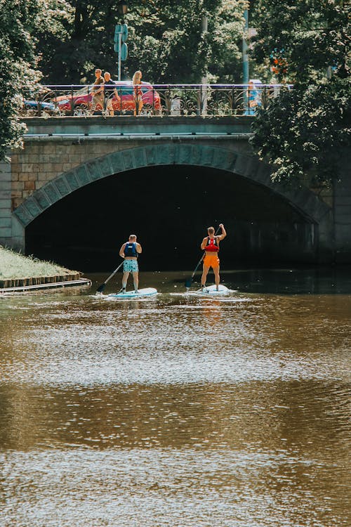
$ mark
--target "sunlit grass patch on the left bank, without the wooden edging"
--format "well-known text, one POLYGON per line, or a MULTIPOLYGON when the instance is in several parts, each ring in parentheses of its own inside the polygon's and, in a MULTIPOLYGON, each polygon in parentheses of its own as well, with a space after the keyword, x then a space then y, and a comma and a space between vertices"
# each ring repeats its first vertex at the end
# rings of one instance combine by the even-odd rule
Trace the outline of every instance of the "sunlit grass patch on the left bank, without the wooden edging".
POLYGON ((40 261, 31 256, 23 256, 0 246, 0 280, 17 280, 22 278, 39 278, 53 275, 77 273, 60 267, 55 263, 40 261))

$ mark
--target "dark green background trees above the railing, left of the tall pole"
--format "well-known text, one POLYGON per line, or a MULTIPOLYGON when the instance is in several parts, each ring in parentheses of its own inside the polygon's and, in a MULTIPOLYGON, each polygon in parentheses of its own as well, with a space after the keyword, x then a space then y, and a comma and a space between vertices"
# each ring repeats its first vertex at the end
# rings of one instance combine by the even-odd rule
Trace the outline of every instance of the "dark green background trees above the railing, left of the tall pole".
MULTIPOLYGON (((116 0, 69 0, 60 32, 39 34, 40 67, 47 84, 90 82, 100 67, 117 73, 114 25, 121 19, 116 0)), ((129 0, 128 59, 123 77, 135 70, 154 84, 239 82, 244 0, 129 0), (201 31, 207 15, 208 32, 201 31)))

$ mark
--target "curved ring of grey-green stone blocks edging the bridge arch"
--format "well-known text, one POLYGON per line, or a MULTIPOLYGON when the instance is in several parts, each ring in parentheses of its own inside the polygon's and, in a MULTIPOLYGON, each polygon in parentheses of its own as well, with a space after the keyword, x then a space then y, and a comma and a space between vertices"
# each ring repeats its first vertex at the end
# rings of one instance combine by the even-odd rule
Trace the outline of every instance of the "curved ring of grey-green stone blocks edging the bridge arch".
POLYGON ((27 197, 13 215, 26 227, 55 202, 93 181, 129 170, 170 164, 210 167, 247 178, 279 194, 313 223, 320 223, 330 212, 330 207, 308 188, 293 189, 272 183, 270 167, 253 155, 209 145, 165 143, 112 152, 59 174, 27 197))

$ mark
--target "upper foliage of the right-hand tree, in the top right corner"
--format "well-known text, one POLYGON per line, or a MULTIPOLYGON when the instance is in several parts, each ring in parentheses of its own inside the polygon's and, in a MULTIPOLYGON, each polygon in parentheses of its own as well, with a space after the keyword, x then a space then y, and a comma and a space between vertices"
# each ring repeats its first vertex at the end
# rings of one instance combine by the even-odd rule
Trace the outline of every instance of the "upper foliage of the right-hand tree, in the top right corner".
POLYGON ((253 55, 263 60, 277 56, 287 62, 279 82, 309 84, 326 76, 327 67, 345 67, 350 50, 350 8, 336 0, 260 0, 253 23, 258 28, 253 55))

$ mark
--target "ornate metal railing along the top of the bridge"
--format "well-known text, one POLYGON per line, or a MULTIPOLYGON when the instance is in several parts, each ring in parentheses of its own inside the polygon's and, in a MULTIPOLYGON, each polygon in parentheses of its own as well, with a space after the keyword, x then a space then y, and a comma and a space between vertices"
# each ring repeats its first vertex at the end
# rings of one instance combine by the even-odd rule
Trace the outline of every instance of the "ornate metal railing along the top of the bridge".
POLYGON ((286 84, 143 84, 141 99, 135 103, 133 85, 121 82, 105 85, 104 95, 96 86, 40 86, 36 93, 25 94, 20 115, 23 117, 90 117, 104 115, 146 116, 235 116, 255 115, 267 108, 286 84))

